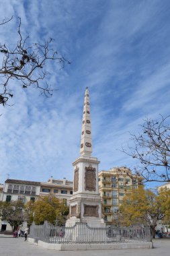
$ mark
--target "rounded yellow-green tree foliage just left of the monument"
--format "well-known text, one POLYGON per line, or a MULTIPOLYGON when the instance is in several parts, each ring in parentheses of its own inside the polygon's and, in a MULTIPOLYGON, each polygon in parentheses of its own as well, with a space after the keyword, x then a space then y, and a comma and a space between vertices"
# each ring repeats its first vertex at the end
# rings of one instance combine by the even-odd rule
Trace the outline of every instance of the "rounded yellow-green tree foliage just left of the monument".
POLYGON ((52 224, 55 224, 56 220, 57 224, 64 224, 69 214, 69 207, 62 200, 48 195, 38 197, 34 203, 27 203, 26 212, 30 224, 33 220, 36 224, 43 224, 45 220, 52 224))

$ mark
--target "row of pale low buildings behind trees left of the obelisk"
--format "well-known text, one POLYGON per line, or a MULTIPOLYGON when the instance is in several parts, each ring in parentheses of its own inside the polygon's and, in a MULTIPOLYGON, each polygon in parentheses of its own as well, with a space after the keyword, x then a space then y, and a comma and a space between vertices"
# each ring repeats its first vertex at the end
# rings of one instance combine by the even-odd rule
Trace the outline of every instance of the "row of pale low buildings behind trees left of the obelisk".
MULTIPOLYGON (((24 204, 28 201, 35 201, 40 195, 55 195, 58 199, 63 199, 65 203, 69 203, 69 198, 73 193, 73 182, 63 180, 54 180, 52 177, 48 182, 22 181, 15 179, 7 179, 5 185, 0 185, 0 201, 22 201, 24 204)), ((27 223, 24 222, 22 229, 26 228, 27 223)), ((11 226, 5 220, 0 218, 0 231, 10 230, 11 226)))

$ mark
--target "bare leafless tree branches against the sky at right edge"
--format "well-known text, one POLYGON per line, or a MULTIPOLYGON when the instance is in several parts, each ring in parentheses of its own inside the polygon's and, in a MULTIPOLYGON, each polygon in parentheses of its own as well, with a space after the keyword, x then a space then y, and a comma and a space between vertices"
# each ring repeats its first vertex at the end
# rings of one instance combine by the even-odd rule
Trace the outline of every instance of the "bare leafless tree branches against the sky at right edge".
POLYGON ((139 163, 135 168, 144 181, 170 181, 170 116, 161 116, 160 121, 144 120, 138 135, 130 134, 134 146, 122 152, 139 163))

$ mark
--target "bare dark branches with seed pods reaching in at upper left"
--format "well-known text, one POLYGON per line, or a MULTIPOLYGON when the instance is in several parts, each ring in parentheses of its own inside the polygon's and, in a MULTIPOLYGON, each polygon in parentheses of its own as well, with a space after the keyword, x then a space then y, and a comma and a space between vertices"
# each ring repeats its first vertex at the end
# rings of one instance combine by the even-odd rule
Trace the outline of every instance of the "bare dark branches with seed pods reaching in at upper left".
MULTIPOLYGON (((1 26, 4 26, 13 19, 3 20, 1 26)), ((65 63, 70 64, 65 57, 57 51, 50 49, 50 40, 43 44, 28 44, 28 38, 22 37, 21 18, 17 34, 19 39, 13 49, 7 44, 0 43, 0 104, 7 104, 9 98, 13 97, 9 82, 11 79, 19 80, 22 88, 26 89, 30 86, 36 86, 46 96, 52 96, 53 88, 44 80, 48 71, 45 70, 45 64, 48 60, 56 61, 60 67, 64 67, 65 63), (44 81, 42 81, 44 80, 44 81)))

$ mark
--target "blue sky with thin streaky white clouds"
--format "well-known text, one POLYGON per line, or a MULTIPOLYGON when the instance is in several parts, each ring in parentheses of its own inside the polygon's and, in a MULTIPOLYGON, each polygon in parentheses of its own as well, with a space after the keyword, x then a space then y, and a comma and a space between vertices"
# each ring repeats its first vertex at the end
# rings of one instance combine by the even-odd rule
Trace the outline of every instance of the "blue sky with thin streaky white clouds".
MULTIPOLYGON (((169 115, 169 0, 0 0, 0 17, 21 17, 30 42, 54 38, 71 65, 48 63, 52 98, 13 81, 13 106, 0 106, 0 183, 10 179, 73 180, 79 156, 86 86, 91 100, 93 156, 99 170, 132 168, 124 155, 145 117, 169 115)), ((17 41, 17 19, 0 27, 1 42, 17 41)), ((148 184, 153 187, 154 184, 148 184)))

